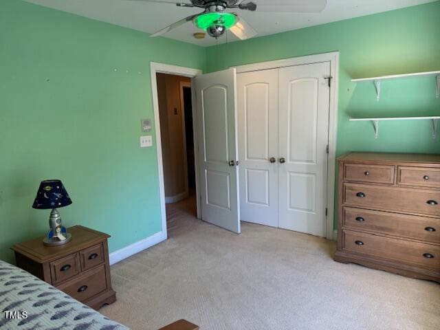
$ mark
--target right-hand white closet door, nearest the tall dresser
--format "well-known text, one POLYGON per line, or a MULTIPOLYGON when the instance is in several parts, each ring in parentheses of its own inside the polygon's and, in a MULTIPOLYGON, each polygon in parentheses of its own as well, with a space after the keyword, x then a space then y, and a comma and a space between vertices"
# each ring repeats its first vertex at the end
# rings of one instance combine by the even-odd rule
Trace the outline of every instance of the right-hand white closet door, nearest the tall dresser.
POLYGON ((278 224, 317 236, 326 229, 328 76, 329 62, 278 72, 278 224))

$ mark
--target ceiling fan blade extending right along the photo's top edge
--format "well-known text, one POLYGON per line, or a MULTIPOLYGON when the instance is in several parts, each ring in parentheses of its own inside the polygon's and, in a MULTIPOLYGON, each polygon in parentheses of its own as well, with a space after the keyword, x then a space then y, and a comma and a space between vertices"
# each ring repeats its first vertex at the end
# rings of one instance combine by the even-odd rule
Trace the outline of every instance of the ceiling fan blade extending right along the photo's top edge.
POLYGON ((322 12, 327 0, 274 0, 257 2, 258 12, 322 12))

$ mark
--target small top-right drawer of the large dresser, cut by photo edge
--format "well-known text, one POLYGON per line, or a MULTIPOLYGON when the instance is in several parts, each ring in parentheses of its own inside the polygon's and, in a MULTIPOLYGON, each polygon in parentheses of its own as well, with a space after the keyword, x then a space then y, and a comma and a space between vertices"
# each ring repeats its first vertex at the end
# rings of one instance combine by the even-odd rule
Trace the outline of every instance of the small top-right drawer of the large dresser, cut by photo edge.
POLYGON ((399 185, 440 188, 440 169, 399 166, 399 185))

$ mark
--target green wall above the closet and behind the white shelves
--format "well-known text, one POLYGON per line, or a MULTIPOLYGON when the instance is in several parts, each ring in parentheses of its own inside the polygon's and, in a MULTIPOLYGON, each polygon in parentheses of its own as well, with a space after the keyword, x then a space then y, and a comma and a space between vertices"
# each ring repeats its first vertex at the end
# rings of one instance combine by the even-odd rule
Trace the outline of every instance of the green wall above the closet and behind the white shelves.
MULTIPOLYGON (((337 155, 349 151, 440 153, 430 120, 371 122, 349 117, 440 115, 434 76, 373 83, 351 78, 440 70, 440 1, 208 48, 208 71, 325 52, 340 52, 337 155)), ((440 135, 440 133, 438 134, 440 135)), ((335 218, 336 219, 336 218, 335 218)), ((336 224, 335 224, 336 225, 336 224)))

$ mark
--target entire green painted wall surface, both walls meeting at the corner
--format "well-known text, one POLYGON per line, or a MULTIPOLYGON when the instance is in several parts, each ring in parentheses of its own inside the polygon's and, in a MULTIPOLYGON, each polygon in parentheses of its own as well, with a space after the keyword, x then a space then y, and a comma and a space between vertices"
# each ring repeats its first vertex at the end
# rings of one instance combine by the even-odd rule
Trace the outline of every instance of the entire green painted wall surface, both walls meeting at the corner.
POLYGON ((49 211, 31 208, 43 179, 62 179, 74 201, 65 225, 108 232, 111 251, 161 230, 155 145, 139 147, 140 119, 153 118, 150 61, 212 72, 339 51, 338 155, 440 153, 428 121, 381 123, 377 139, 371 123, 348 121, 440 113, 433 77, 384 82, 380 102, 372 83, 350 81, 440 69, 439 17, 437 1, 206 49, 2 0, 0 259, 47 230, 49 211))

